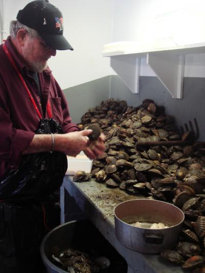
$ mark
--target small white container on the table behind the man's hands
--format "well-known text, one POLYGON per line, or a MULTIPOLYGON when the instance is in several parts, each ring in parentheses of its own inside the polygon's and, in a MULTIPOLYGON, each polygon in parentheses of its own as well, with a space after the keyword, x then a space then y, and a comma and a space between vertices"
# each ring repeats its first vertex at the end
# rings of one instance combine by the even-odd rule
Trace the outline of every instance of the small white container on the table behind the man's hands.
POLYGON ((81 151, 76 157, 67 156, 68 169, 66 175, 74 175, 77 171, 85 171, 90 173, 92 169, 93 161, 89 159, 83 151, 81 151))

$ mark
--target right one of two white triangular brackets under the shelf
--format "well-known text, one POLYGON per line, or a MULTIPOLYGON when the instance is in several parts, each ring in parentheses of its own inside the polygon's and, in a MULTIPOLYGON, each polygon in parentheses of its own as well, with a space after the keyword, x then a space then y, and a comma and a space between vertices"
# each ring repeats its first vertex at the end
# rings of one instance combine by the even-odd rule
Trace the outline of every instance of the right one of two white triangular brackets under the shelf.
POLYGON ((173 98, 183 97, 185 55, 167 52, 147 53, 147 64, 173 98))

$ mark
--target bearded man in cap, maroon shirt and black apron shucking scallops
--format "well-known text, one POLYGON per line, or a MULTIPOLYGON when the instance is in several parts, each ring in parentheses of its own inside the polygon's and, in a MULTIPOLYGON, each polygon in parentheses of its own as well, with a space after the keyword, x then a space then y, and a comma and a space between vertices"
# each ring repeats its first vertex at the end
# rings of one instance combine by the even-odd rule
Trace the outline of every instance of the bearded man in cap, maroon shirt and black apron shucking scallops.
MULTIPOLYGON (((48 1, 33 1, 20 10, 0 46, 0 271, 4 273, 43 270, 38 252, 45 235, 44 201, 62 183, 66 155, 84 150, 94 159, 105 149, 103 134, 90 146, 92 130, 79 131, 71 122, 66 98, 47 66, 56 50, 67 49, 73 50, 63 36, 63 16, 48 1), (41 188, 34 173, 26 182, 21 178, 19 185, 19 170, 30 155, 60 158, 58 181, 48 180, 41 188), (38 185, 35 193, 31 184, 38 185)), ((44 175, 51 172, 52 180, 55 166, 47 170, 44 165, 40 168, 46 170, 44 175)))

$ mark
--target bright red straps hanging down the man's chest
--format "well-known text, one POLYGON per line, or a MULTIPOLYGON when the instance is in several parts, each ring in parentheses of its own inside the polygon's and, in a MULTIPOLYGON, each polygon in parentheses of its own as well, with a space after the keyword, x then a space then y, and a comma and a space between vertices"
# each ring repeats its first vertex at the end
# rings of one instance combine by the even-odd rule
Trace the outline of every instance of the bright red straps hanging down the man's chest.
MULTIPOLYGON (((33 103, 33 106, 34 106, 34 108, 35 108, 35 110, 36 110, 36 112, 37 112, 39 118, 42 119, 42 115, 40 114, 40 112, 39 112, 39 110, 38 110, 38 108, 37 108, 37 105, 36 105, 36 103, 35 103, 35 100, 34 100, 34 98, 32 97, 31 92, 29 91, 29 89, 28 89, 28 87, 27 87, 27 84, 26 84, 24 78, 23 78, 22 74, 20 74, 19 69, 17 68, 17 66, 16 66, 16 64, 15 64, 15 62, 14 62, 14 60, 13 60, 11 54, 10 54, 10 52, 8 51, 8 48, 7 48, 7 46, 6 46, 5 43, 4 43, 4 45, 3 45, 3 50, 4 50, 4 52, 6 53, 8 59, 10 60, 10 62, 11 62, 11 64, 12 64, 13 68, 15 69, 16 73, 18 74, 20 80, 22 80, 22 83, 23 83, 23 85, 24 85, 24 87, 25 87, 25 89, 26 89, 26 91, 27 91, 27 94, 29 95, 29 98, 31 99, 31 101, 32 101, 32 103, 33 103)), ((49 101, 48 101, 48 103, 47 103, 47 112, 48 112, 49 118, 51 118, 51 117, 52 117, 52 113, 51 113, 51 107, 50 107, 49 101)))

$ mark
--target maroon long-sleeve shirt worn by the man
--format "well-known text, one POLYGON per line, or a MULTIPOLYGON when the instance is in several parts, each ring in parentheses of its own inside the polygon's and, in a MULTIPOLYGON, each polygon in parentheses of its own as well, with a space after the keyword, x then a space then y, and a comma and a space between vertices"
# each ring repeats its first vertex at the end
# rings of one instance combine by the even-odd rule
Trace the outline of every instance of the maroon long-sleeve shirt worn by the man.
MULTIPOLYGON (((6 40, 7 48, 17 67, 22 72, 26 84, 43 115, 38 87, 29 75, 23 60, 12 45, 11 38, 6 40)), ((44 107, 50 101, 53 118, 58 121, 64 133, 78 131, 76 124, 71 122, 66 98, 51 70, 47 68, 38 73, 42 90, 42 104, 44 107)), ((47 113, 45 118, 48 118, 47 113)), ((33 139, 39 124, 39 116, 27 94, 22 81, 14 70, 0 46, 0 180, 10 169, 16 169, 22 157, 21 154, 33 139)))

